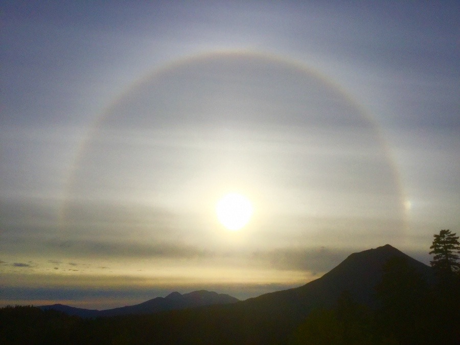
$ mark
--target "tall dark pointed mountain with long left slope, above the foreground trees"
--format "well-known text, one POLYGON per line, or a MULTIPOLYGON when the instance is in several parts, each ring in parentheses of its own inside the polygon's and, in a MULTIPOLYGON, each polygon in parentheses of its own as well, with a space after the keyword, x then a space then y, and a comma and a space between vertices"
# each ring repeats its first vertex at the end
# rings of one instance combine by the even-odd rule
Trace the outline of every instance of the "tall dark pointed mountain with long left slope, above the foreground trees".
MULTIPOLYGON (((278 329, 279 334, 288 334, 313 309, 333 307, 344 291, 349 292, 358 303, 375 305, 375 286, 381 281, 383 266, 393 257, 406 257, 409 265, 427 280, 433 279, 431 267, 386 244, 349 255, 322 277, 303 286, 249 298, 230 309, 238 309, 236 314, 242 320, 251 320, 259 327, 278 329)), ((259 340, 262 341, 258 338, 255 342, 259 340)))

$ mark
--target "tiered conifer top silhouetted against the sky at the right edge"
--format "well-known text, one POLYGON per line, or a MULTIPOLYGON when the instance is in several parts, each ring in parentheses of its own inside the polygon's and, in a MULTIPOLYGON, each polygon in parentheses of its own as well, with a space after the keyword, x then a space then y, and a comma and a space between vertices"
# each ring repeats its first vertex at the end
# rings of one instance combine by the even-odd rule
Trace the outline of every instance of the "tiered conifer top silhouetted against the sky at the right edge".
POLYGON ((433 244, 430 249, 433 249, 429 254, 434 254, 431 266, 442 277, 452 277, 460 270, 458 262, 458 253, 460 253, 460 244, 458 236, 452 234, 450 230, 441 230, 439 235, 434 235, 433 244))

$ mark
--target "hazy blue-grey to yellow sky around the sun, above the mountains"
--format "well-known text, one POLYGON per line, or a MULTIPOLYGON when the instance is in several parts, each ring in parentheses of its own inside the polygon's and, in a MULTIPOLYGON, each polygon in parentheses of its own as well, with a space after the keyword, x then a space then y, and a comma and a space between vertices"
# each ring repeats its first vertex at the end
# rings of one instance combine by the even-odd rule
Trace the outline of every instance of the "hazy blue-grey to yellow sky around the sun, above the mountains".
POLYGON ((247 298, 386 243, 428 263, 460 232, 459 15, 3 1, 0 305, 247 298))

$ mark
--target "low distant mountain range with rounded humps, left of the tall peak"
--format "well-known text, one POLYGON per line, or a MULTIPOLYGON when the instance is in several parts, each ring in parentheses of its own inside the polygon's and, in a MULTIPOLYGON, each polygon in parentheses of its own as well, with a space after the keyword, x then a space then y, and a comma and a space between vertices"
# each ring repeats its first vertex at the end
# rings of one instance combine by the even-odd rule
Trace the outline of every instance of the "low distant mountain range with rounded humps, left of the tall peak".
POLYGON ((54 304, 39 307, 42 310, 53 309, 67 315, 77 315, 80 317, 116 316, 128 314, 151 314, 160 311, 179 310, 186 308, 211 306, 216 304, 228 304, 238 302, 238 298, 223 293, 199 290, 190 293, 180 294, 175 291, 166 297, 156 297, 152 300, 136 304, 106 310, 83 309, 54 304))

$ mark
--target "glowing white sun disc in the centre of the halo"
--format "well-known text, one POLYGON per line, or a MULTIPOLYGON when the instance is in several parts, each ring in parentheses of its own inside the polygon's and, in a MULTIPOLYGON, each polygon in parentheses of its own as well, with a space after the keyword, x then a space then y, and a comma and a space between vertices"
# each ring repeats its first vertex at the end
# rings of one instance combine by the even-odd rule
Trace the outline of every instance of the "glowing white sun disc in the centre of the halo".
POLYGON ((248 198, 238 193, 226 194, 216 204, 219 221, 227 229, 237 231, 246 225, 254 209, 248 198))

